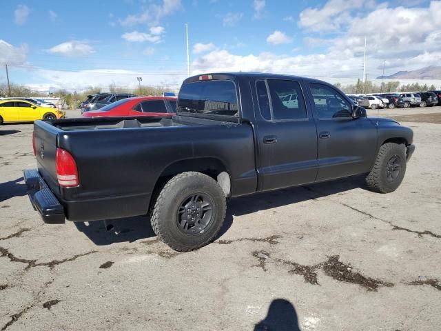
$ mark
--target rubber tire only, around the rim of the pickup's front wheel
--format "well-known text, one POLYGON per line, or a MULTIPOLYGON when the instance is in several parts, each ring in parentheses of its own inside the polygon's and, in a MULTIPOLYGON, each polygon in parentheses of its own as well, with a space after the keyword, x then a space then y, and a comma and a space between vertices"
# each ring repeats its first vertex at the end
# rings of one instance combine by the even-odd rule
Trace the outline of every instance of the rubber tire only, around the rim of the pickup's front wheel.
POLYGON ((406 148, 403 144, 384 143, 378 151, 371 172, 366 177, 366 183, 370 190, 378 193, 395 191, 406 173, 406 148), (400 169, 395 179, 388 177, 389 162, 398 157, 400 169))

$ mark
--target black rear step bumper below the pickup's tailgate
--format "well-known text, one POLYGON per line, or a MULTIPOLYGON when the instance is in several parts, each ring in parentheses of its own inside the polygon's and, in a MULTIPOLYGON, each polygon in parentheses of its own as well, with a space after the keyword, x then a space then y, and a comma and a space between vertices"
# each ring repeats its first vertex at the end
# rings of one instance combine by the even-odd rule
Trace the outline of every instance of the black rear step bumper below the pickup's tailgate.
POLYGON ((32 207, 48 224, 65 223, 63 205, 54 196, 37 169, 25 170, 24 179, 32 207))

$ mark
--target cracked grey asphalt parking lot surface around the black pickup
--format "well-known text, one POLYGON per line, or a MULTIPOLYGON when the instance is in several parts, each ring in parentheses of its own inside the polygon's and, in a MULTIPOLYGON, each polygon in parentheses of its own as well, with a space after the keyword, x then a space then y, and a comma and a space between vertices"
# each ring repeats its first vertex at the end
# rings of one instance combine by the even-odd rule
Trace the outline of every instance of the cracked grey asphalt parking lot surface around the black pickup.
POLYGON ((147 217, 45 225, 32 124, 1 126, 0 330, 440 330, 441 107, 377 113, 415 132, 396 192, 356 177, 233 199, 188 253, 147 217))

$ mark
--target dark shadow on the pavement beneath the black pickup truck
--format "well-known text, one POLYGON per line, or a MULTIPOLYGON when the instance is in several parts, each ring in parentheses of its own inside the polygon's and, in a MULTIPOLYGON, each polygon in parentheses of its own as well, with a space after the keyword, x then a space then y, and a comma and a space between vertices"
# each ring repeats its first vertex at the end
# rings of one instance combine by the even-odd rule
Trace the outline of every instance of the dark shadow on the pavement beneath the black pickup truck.
MULTIPOLYGON (((286 188, 231 199, 228 202, 225 222, 216 236, 216 239, 222 237, 223 234, 231 228, 234 217, 310 199, 327 197, 356 188, 365 189, 364 177, 349 177, 329 181, 327 183, 286 188)), ((95 245, 110 245, 112 243, 121 242, 131 243, 139 239, 155 237, 152 225, 150 225, 150 219, 147 216, 109 220, 107 221, 107 225, 113 225, 113 229, 110 231, 106 230, 106 224, 103 221, 93 221, 89 223, 76 222, 74 224, 76 228, 83 232, 95 245)))

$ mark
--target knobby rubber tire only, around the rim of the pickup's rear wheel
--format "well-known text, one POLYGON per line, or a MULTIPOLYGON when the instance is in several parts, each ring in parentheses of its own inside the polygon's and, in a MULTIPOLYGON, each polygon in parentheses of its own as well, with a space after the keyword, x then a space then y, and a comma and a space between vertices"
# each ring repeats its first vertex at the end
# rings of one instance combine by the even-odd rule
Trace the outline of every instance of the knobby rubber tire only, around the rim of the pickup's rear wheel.
POLYGON ((167 181, 158 195, 150 222, 158 237, 173 250, 188 252, 214 240, 225 220, 225 194, 212 179, 201 172, 183 172, 167 181), (178 228, 178 210, 192 194, 205 194, 212 201, 212 220, 198 234, 185 234, 178 228))

